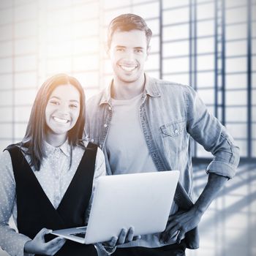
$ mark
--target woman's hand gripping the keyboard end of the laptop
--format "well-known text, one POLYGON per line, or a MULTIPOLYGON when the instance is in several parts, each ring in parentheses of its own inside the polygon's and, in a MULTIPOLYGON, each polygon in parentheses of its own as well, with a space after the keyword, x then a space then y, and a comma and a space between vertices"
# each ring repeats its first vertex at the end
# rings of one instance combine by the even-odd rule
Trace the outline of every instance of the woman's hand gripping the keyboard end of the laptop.
POLYGON ((65 244, 66 239, 57 237, 45 243, 45 235, 52 230, 43 228, 37 233, 33 240, 27 241, 24 246, 24 252, 37 254, 37 255, 55 255, 65 244))

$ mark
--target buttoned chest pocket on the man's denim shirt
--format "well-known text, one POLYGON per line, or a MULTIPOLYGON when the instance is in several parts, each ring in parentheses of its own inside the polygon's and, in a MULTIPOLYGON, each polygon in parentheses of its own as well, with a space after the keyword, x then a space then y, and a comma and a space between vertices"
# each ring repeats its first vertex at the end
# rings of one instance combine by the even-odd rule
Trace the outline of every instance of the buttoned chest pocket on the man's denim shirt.
POLYGON ((165 151, 169 154, 177 154, 187 147, 186 121, 163 124, 160 129, 165 151))

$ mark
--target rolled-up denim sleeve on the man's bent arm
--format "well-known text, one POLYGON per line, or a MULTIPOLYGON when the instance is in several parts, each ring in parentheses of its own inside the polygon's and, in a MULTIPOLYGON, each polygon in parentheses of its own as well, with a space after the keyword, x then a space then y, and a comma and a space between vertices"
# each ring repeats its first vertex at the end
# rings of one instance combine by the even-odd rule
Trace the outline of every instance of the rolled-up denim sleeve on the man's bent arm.
POLYGON ((187 131, 214 159, 206 173, 233 178, 239 162, 239 148, 217 118, 208 112, 206 105, 192 87, 187 86, 187 131))

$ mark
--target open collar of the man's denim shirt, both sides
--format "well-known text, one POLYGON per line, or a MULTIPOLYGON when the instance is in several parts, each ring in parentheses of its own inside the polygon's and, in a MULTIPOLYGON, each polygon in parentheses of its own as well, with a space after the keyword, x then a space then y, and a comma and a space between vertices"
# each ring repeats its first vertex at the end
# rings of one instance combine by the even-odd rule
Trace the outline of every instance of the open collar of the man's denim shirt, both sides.
MULTIPOLYGON (((146 73, 144 73, 144 75, 145 75, 145 88, 143 91, 143 95, 147 94, 151 97, 160 97, 161 94, 159 89, 157 88, 154 78, 150 78, 146 73)), ((99 102, 99 105, 102 105, 102 104, 110 105, 112 84, 113 84, 113 79, 111 80, 107 88, 103 91, 102 98, 99 102)))

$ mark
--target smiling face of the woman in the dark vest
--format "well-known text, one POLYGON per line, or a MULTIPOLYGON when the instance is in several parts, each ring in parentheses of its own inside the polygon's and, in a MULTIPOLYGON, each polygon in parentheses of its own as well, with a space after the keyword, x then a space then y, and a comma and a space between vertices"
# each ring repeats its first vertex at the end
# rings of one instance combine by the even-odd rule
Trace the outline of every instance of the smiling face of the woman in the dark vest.
POLYGON ((64 84, 57 86, 48 99, 45 108, 45 121, 48 135, 67 136, 69 129, 75 126, 80 113, 80 93, 75 86, 64 84))

